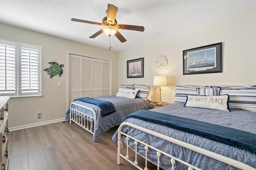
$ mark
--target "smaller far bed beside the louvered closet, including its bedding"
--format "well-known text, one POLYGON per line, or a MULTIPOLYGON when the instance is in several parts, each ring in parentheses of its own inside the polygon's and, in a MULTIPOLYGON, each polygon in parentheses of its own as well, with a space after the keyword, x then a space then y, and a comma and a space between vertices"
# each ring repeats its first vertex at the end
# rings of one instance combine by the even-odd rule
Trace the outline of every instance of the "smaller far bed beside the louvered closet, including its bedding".
MULTIPOLYGON (((116 96, 92 98, 106 101, 108 102, 107 104, 113 104, 113 112, 107 112, 105 115, 102 114, 103 108, 97 106, 96 100, 90 101, 91 98, 76 99, 66 111, 65 122, 68 122, 68 120, 70 124, 75 122, 92 133, 92 140, 96 142, 100 139, 102 133, 120 125, 128 114, 138 110, 152 109, 150 101, 152 101, 153 92, 152 85, 122 84, 116 96)), ((107 105, 106 108, 108 108, 107 105)))

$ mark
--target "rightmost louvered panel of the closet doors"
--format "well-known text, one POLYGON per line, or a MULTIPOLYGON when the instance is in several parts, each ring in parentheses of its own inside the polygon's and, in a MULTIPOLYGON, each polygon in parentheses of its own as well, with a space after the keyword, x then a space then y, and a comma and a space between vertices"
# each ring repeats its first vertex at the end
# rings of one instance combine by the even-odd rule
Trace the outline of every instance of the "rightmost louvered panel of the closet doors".
POLYGON ((102 60, 102 96, 110 95, 110 61, 102 60))

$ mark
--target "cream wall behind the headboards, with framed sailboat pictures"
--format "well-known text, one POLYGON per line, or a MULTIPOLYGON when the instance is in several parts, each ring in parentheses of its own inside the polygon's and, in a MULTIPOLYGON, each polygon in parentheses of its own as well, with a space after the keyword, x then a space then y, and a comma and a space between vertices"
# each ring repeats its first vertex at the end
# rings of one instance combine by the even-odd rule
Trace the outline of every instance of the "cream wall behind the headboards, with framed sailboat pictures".
MULTIPOLYGON (((146 28, 145 28, 146 29, 146 28)), ((153 77, 167 76, 162 101, 172 103, 175 84, 256 84, 256 11, 118 53, 118 85, 153 84, 153 77), (222 42, 222 73, 183 75, 182 50, 222 42), (158 56, 168 58, 168 66, 158 69, 158 56), (144 57, 144 78, 126 78, 126 61, 144 57)), ((154 100, 159 101, 155 87, 154 100)))

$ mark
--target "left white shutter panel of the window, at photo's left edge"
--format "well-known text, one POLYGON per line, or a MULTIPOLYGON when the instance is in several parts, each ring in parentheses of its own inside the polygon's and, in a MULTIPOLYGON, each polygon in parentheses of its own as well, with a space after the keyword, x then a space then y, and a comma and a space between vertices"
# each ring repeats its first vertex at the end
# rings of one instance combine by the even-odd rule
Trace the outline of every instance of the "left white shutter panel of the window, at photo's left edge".
POLYGON ((18 93, 15 50, 15 43, 0 41, 0 92, 6 96, 16 96, 18 93))

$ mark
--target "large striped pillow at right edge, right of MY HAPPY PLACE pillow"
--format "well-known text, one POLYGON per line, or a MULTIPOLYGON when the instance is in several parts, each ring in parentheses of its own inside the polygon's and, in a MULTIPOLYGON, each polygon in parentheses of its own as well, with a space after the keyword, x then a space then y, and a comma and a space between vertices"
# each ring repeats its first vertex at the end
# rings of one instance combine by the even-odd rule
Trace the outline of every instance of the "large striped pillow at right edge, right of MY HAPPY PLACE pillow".
POLYGON ((246 87, 218 87, 221 89, 220 95, 229 94, 230 108, 256 112, 256 84, 246 87))

